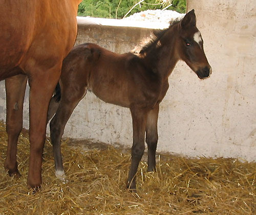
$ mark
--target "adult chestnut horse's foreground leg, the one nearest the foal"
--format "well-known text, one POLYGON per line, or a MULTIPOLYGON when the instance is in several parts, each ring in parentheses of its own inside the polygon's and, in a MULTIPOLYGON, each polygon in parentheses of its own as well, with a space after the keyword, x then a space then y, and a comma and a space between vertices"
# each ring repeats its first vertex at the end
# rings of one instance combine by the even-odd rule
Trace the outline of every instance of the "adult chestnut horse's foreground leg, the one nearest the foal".
POLYGON ((51 68, 34 65, 29 68, 29 140, 30 158, 28 188, 41 187, 42 152, 46 139, 47 111, 54 88, 59 80, 61 64, 51 68))

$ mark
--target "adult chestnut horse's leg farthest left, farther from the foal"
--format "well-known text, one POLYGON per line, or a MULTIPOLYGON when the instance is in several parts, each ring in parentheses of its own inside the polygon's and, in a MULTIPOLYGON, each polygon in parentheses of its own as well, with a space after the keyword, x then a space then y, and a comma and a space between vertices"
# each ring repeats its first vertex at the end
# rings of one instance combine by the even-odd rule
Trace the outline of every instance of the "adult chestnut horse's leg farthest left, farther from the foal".
POLYGON ((27 86, 27 76, 23 74, 9 77, 6 86, 6 131, 8 134, 5 169, 9 175, 20 177, 17 164, 17 142, 23 125, 23 102, 27 86))

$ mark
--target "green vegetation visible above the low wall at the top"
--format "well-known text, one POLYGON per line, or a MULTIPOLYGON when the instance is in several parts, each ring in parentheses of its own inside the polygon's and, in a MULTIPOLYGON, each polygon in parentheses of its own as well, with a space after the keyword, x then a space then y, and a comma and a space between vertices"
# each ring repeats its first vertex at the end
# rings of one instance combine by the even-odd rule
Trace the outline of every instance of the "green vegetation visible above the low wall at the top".
POLYGON ((78 16, 92 16, 101 18, 123 18, 133 7, 129 15, 144 10, 163 9, 172 2, 172 6, 167 10, 176 10, 179 13, 185 13, 186 0, 83 0, 78 7, 78 16), (134 7, 137 3, 136 7, 134 7))

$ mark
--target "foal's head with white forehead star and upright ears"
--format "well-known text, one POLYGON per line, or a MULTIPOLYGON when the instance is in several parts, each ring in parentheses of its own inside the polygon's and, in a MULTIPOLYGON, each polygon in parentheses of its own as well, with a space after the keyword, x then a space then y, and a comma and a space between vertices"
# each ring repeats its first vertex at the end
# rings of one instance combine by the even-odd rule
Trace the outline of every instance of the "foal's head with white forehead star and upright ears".
POLYGON ((201 33, 196 27, 194 10, 188 12, 178 23, 178 29, 176 53, 198 75, 199 79, 209 77, 211 67, 204 53, 201 33))

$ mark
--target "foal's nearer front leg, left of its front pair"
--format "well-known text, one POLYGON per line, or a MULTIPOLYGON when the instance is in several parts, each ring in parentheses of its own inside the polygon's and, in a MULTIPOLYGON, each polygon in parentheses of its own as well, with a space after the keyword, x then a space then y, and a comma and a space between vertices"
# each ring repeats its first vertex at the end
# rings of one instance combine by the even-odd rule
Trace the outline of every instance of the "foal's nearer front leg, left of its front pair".
POLYGON ((147 111, 137 107, 130 108, 133 119, 133 146, 132 146, 132 163, 129 171, 126 187, 136 189, 136 173, 139 162, 145 150, 145 127, 147 111))

